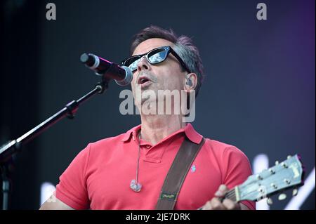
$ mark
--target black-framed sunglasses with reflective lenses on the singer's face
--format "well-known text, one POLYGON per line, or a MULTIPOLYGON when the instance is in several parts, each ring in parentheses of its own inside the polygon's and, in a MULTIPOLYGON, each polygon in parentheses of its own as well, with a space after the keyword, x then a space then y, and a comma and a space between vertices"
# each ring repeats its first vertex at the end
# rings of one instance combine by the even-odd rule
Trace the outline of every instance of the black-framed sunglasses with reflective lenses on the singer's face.
POLYGON ((137 70, 138 62, 140 62, 140 59, 143 58, 143 56, 145 56, 145 58, 148 60, 148 62, 150 62, 150 64, 154 65, 166 60, 169 53, 172 53, 178 59, 182 67, 187 72, 191 73, 190 70, 187 68, 187 65, 185 65, 185 62, 183 62, 183 60, 176 53, 176 51, 173 51, 173 48, 171 48, 171 46, 161 46, 159 48, 154 48, 152 49, 152 51, 144 53, 143 55, 133 55, 123 60, 121 64, 126 67, 129 67, 133 72, 137 70))

